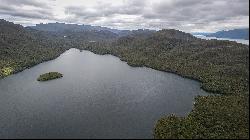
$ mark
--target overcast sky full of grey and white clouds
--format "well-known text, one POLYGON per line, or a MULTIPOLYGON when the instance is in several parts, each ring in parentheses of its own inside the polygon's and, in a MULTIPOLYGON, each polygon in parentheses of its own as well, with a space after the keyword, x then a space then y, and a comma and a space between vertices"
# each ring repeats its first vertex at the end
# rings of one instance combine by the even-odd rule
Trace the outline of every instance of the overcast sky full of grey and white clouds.
POLYGON ((249 28, 249 0, 0 0, 0 19, 216 32, 249 28))

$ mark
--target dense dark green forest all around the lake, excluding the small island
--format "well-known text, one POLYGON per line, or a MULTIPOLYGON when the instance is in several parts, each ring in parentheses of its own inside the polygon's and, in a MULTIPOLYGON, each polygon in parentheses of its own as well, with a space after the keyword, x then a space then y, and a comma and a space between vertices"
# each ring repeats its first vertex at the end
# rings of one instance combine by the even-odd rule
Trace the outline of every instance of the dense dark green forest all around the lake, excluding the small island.
POLYGON ((173 29, 118 36, 110 31, 38 31, 1 20, 0 77, 54 59, 72 47, 112 54, 131 66, 198 80, 201 88, 214 93, 197 97, 185 118, 160 119, 155 138, 249 138, 249 46, 202 40, 173 29))

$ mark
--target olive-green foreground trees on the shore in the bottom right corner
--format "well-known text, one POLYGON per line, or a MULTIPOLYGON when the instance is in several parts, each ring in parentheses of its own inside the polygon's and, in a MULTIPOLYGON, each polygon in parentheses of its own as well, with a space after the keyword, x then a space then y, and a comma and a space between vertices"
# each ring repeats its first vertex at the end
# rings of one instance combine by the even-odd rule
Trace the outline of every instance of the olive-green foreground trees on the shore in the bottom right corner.
POLYGON ((171 115, 155 126, 157 139, 249 138, 248 95, 197 97, 185 118, 171 115))

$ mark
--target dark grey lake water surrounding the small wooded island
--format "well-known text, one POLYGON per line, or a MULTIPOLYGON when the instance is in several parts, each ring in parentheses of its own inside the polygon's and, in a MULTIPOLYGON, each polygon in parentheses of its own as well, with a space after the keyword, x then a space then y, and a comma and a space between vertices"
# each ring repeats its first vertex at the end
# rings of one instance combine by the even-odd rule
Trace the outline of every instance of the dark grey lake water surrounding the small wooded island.
POLYGON ((0 80, 0 138, 152 138, 158 119, 187 115, 198 82, 111 55, 70 49, 0 80), (40 74, 64 77, 38 82, 40 74))

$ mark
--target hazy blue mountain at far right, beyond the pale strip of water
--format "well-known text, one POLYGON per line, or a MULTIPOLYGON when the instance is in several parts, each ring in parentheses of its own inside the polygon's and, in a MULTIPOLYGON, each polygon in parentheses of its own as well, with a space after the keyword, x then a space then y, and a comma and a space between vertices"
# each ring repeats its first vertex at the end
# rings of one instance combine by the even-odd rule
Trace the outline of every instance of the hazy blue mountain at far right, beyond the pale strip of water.
POLYGON ((207 37, 217 38, 230 38, 230 39, 245 39, 249 40, 249 28, 234 29, 229 31, 219 31, 216 33, 208 34, 207 37))

